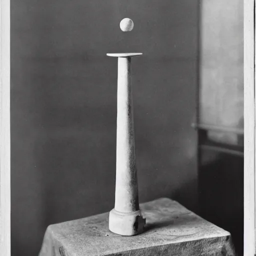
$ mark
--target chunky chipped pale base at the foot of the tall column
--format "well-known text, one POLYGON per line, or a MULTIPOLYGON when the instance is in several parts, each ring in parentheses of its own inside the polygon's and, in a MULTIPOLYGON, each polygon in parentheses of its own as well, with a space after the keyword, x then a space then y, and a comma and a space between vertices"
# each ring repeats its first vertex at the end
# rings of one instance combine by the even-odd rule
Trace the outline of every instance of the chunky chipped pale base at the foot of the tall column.
POLYGON ((109 230, 120 235, 136 235, 143 232, 146 219, 140 210, 119 212, 115 209, 109 212, 109 230))

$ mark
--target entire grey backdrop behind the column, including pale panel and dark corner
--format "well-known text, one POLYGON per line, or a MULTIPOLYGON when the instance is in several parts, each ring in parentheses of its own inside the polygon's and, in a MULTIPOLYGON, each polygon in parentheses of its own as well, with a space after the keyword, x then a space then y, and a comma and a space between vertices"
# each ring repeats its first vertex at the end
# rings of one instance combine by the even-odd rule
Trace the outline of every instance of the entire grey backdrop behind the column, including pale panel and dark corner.
POLYGON ((120 51, 143 52, 132 60, 140 202, 175 199, 241 250, 243 2, 199 3, 11 1, 11 255, 37 255, 49 224, 113 207, 117 62, 106 53, 120 51))

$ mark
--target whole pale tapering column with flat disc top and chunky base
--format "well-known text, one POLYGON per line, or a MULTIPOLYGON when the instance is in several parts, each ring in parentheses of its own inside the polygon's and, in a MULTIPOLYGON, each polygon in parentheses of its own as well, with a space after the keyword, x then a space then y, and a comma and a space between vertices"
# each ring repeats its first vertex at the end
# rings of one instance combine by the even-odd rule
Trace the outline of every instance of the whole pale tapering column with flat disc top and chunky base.
POLYGON ((107 53, 118 57, 115 204, 109 230, 120 235, 143 231, 145 218, 138 204, 130 61, 142 53, 107 53))

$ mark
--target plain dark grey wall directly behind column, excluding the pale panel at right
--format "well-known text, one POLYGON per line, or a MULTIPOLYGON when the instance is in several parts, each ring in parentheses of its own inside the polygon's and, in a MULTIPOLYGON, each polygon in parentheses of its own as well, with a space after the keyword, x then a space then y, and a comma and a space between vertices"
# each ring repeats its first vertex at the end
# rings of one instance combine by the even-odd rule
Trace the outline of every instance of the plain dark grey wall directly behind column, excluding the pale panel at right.
POLYGON ((197 0, 11 1, 12 256, 114 203, 116 75, 133 59, 140 201, 196 209, 197 0), (130 17, 132 32, 119 21, 130 17))

